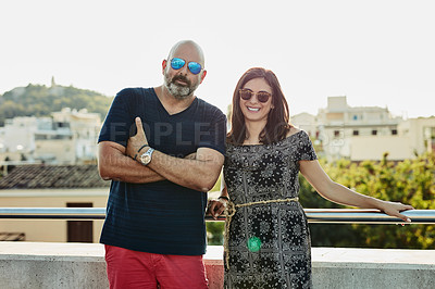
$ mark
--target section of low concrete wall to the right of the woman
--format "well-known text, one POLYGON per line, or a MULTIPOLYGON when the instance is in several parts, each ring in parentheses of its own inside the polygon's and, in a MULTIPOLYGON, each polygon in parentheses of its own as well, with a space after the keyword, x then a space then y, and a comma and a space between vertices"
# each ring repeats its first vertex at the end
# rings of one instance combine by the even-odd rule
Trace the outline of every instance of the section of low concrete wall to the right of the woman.
POLYGON ((313 248, 314 288, 435 288, 435 250, 313 248))

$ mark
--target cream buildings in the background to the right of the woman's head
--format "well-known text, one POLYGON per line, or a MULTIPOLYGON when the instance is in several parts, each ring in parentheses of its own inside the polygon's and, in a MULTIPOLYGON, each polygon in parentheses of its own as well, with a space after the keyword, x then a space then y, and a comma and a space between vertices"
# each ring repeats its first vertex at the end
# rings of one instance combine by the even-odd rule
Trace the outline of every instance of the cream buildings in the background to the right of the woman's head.
POLYGON ((328 161, 376 161, 384 153, 400 161, 435 148, 435 116, 403 120, 386 108, 349 106, 346 97, 330 97, 316 116, 299 114, 291 122, 309 131, 328 161))

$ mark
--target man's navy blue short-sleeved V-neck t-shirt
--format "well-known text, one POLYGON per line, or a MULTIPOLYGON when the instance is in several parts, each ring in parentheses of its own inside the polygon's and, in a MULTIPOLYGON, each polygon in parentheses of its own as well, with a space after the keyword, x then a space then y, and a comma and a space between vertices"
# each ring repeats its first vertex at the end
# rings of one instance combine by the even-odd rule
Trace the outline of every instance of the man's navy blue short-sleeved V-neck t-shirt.
MULTIPOLYGON (((196 98, 189 108, 170 115, 153 88, 120 91, 98 142, 126 147, 128 137, 136 134, 136 116, 142 121, 150 147, 163 153, 184 158, 202 147, 225 153, 226 117, 219 109, 196 98)), ((158 254, 203 254, 206 206, 207 193, 169 180, 112 180, 100 242, 158 254)))

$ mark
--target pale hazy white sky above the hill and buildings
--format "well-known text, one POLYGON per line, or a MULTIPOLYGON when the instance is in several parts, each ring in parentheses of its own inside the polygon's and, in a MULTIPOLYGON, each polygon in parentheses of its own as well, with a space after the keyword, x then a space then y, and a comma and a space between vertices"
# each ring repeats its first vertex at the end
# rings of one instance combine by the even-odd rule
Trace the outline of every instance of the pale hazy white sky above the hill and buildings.
POLYGON ((0 93, 29 83, 108 96, 162 83, 173 43, 194 39, 222 110, 241 74, 275 72, 291 114, 328 96, 394 115, 435 115, 433 1, 84 1, 0 3, 0 93), (209 3, 210 2, 210 3, 209 3))

